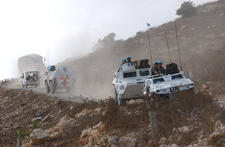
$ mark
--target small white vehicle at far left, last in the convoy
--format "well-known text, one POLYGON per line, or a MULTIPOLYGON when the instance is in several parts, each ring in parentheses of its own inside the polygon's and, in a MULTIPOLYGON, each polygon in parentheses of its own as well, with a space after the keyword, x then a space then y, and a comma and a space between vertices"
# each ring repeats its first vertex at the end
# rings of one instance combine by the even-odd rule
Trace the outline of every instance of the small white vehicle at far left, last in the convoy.
POLYGON ((40 84, 39 71, 24 71, 21 76, 21 84, 23 88, 37 87, 40 84))

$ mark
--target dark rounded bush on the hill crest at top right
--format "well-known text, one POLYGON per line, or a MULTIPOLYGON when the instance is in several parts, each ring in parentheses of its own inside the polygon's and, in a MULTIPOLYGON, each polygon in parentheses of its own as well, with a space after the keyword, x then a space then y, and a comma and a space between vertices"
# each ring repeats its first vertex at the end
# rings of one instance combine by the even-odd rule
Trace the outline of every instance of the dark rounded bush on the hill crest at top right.
POLYGON ((196 13, 195 5, 192 1, 184 2, 177 10, 177 15, 190 17, 196 13))

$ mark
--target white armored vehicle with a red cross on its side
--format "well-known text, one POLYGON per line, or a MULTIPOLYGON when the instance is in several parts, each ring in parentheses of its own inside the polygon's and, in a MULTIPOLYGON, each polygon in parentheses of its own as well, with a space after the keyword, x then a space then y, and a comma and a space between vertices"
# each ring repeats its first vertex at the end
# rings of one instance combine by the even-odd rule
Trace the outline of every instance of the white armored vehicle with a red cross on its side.
POLYGON ((48 66, 45 72, 45 86, 47 93, 54 94, 56 90, 63 89, 70 92, 73 86, 72 72, 65 66, 56 68, 55 66, 48 66))

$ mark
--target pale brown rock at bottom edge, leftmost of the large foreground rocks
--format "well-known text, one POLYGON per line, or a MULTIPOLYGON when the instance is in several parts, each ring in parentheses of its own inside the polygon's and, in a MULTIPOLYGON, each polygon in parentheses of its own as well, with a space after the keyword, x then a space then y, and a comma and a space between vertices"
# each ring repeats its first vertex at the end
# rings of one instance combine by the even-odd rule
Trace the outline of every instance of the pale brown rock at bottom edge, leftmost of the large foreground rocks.
POLYGON ((34 129, 30 134, 31 145, 39 145, 50 139, 50 133, 42 129, 34 129))

